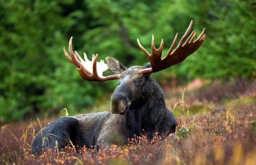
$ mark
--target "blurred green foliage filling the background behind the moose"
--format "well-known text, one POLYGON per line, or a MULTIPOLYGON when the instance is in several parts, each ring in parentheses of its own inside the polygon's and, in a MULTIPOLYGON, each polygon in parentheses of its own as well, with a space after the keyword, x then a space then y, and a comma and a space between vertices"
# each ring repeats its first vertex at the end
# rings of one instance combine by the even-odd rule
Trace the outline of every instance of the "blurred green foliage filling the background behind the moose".
POLYGON ((163 38, 165 54, 190 20, 199 34, 206 28, 203 45, 154 78, 256 76, 254 0, 0 0, 0 123, 33 111, 86 112, 116 87, 117 81, 88 82, 79 76, 63 53, 70 36, 79 54, 112 56, 131 67, 148 63, 137 38, 149 52, 151 34, 156 45, 163 38))

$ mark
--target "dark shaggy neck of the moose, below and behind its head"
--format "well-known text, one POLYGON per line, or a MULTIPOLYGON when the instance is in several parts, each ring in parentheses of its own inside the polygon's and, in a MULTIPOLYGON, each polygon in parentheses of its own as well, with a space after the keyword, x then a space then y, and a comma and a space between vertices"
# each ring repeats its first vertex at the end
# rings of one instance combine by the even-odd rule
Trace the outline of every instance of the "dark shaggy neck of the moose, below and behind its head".
POLYGON ((120 115, 120 122, 130 130, 128 136, 139 135, 142 129, 157 126, 166 109, 163 91, 150 77, 143 88, 143 95, 131 103, 125 115, 120 115))

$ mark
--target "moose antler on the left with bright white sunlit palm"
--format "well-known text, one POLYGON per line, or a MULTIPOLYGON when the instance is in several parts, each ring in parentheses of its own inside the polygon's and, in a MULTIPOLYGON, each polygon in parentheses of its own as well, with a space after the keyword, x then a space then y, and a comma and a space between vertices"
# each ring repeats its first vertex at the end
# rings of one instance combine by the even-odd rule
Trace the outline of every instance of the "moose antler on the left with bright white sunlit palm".
POLYGON ((67 51, 64 47, 64 54, 67 57, 67 59, 72 62, 74 65, 76 65, 76 68, 82 78, 84 78, 87 81, 108 81, 113 79, 119 79, 120 74, 115 74, 111 76, 102 76, 103 73, 108 71, 108 65, 104 63, 103 60, 100 62, 97 62, 98 54, 96 56, 93 54, 92 61, 87 59, 86 54, 84 53, 84 60, 79 56, 79 54, 75 51, 75 54, 73 53, 72 49, 72 39, 70 38, 69 42, 69 52, 70 56, 67 54, 67 51), (79 62, 79 60, 80 62, 79 62))

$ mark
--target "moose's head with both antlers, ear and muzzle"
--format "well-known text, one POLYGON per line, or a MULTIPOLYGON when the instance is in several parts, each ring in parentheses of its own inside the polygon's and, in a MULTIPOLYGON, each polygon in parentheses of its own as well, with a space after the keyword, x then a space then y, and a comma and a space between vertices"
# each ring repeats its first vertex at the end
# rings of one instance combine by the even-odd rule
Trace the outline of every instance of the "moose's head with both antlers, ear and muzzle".
MULTIPOLYGON (((140 44, 139 39, 137 42, 148 58, 149 63, 144 67, 133 66, 127 69, 123 66, 117 59, 112 57, 107 57, 106 63, 103 60, 97 62, 98 54, 96 56, 93 54, 92 61, 87 59, 86 54, 84 53, 84 60, 79 56, 79 54, 75 51, 73 53, 72 50, 72 39, 70 38, 69 42, 69 52, 70 56, 67 54, 67 51, 64 47, 64 53, 70 62, 72 62, 77 68, 79 74, 82 78, 87 81, 108 81, 113 79, 119 79, 118 87, 114 90, 111 96, 111 113, 118 113, 120 115, 124 114, 124 112, 129 109, 130 106, 133 105, 133 102, 139 102, 143 95, 144 86, 147 84, 148 78, 151 73, 158 72, 160 70, 164 70, 168 67, 171 67, 175 64, 182 62, 186 57, 194 53, 204 42, 205 34, 204 31, 198 36, 198 39, 195 41, 196 31, 192 31, 190 36, 186 39, 189 34, 189 31, 192 28, 193 21, 190 22, 189 27, 187 28, 185 34, 180 39, 180 42, 177 48, 172 52, 176 40, 177 34, 175 36, 172 45, 167 52, 166 56, 161 59, 162 51, 163 51, 163 39, 160 44, 160 48, 156 49, 154 45, 154 36, 152 35, 152 45, 151 45, 151 54, 148 53, 145 48, 140 44), (183 44, 184 40, 186 42, 183 44), (79 62, 79 60, 80 62, 79 62), (107 70, 110 70, 113 75, 111 76, 102 76, 107 70)), ((147 88, 148 89, 148 88, 147 88)))

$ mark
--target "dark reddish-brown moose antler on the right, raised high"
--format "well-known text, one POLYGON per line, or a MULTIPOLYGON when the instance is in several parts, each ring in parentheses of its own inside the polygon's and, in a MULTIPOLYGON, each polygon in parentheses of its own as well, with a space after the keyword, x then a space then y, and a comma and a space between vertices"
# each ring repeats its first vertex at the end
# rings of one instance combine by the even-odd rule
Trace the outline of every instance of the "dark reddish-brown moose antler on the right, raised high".
POLYGON ((182 62, 184 59, 186 59, 187 56, 194 53, 195 50, 197 50, 202 45, 206 36, 204 34, 204 31, 205 31, 205 28, 204 28, 202 33, 198 36, 198 39, 196 39, 193 42, 193 40, 195 38, 195 34, 196 34, 196 31, 194 30, 194 31, 192 31, 192 33, 190 34, 190 36, 188 37, 186 42, 183 44, 183 41, 186 39, 186 37, 189 34, 189 31, 192 28, 192 24, 193 24, 193 20, 190 22, 190 25, 187 28, 185 34, 180 39, 179 45, 172 52, 172 50, 175 46, 175 42, 177 40, 178 33, 176 34, 175 39, 172 42, 172 45, 171 45, 169 51, 167 52, 166 56, 163 59, 161 59, 162 51, 163 51, 163 39, 161 41, 160 48, 156 49, 155 45, 154 45, 154 36, 152 35, 152 45, 151 45, 152 52, 151 52, 151 54, 149 54, 147 52, 147 50, 145 50, 145 48, 143 48, 143 46, 140 44, 139 39, 137 39, 140 49, 143 50, 143 52, 146 54, 146 56, 148 57, 148 60, 151 64, 151 68, 140 70, 140 73, 142 73, 142 74, 154 73, 154 72, 158 72, 160 70, 164 70, 168 67, 171 67, 172 65, 182 62))

